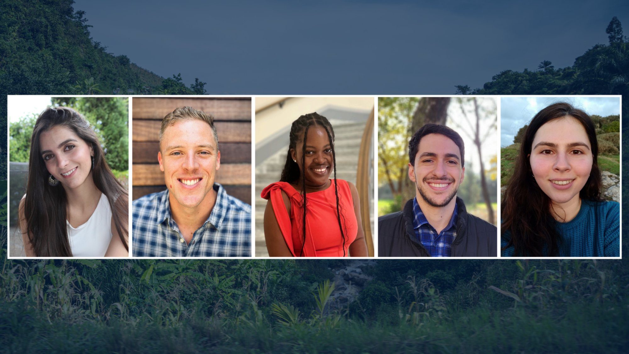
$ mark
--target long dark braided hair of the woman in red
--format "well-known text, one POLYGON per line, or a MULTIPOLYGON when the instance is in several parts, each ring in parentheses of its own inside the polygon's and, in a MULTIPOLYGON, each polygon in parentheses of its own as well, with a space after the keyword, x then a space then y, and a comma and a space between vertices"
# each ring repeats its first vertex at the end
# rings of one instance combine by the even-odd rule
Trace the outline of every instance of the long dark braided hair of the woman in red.
POLYGON ((334 193, 337 196, 337 220, 338 228, 341 231, 341 237, 343 238, 343 257, 345 257, 345 232, 343 232, 343 226, 341 225, 341 214, 338 205, 338 186, 337 186, 337 154, 334 149, 334 130, 332 125, 328 122, 328 118, 323 117, 318 113, 308 113, 303 115, 294 122, 291 126, 290 143, 288 147, 288 153, 286 154, 286 164, 282 170, 282 176, 280 182, 298 183, 301 178, 301 195, 303 197, 303 243, 301 244, 301 252, 304 253, 304 245, 306 244, 306 174, 303 170, 299 169, 299 164, 292 161, 291 149, 297 150, 297 142, 301 139, 301 132, 304 132, 304 141, 301 146, 301 166, 305 169, 306 166, 306 140, 308 138, 308 128, 313 126, 319 126, 325 128, 328 133, 328 139, 330 139, 330 149, 332 150, 332 161, 334 164, 334 193))

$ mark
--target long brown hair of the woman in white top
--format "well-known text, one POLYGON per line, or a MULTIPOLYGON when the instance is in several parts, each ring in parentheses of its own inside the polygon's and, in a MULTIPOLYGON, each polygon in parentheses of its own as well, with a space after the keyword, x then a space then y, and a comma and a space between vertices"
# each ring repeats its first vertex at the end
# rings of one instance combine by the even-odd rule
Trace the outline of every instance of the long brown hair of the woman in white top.
POLYGON ((31 152, 28 161, 28 182, 23 215, 26 219, 28 240, 38 257, 71 257, 70 241, 67 234, 67 196, 62 186, 48 184, 48 169, 40 154, 40 135, 53 127, 69 128, 83 139, 94 151, 94 185, 109 201, 118 236, 129 249, 125 237, 128 236, 127 222, 128 192, 116 180, 105 161, 103 149, 96 133, 77 111, 67 107, 47 108, 42 112, 31 135, 31 152))

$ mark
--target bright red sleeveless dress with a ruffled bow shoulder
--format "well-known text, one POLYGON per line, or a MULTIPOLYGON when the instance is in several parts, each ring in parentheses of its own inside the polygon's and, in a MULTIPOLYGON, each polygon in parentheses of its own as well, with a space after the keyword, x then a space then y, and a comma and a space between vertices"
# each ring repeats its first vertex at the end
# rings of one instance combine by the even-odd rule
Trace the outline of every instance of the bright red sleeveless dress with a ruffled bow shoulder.
MULTIPOLYGON (((345 235, 345 256, 356 239, 358 222, 353 208, 352 191, 347 181, 338 182, 338 210, 345 235)), ((290 183, 276 182, 262 190, 262 198, 271 201, 284 241, 296 257, 342 257, 343 237, 338 227, 337 196, 334 180, 326 190, 306 194, 306 244, 303 244, 303 197, 290 183), (282 191, 291 201, 291 215, 286 212, 282 191)))

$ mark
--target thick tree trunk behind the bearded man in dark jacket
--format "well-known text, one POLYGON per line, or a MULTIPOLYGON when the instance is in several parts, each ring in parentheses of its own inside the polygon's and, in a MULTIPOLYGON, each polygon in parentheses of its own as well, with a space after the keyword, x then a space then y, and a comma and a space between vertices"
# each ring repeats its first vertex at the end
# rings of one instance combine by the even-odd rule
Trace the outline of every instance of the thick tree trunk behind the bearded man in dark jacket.
MULTIPOLYGON (((428 123, 435 123, 445 125, 445 121, 448 117, 448 106, 450 105, 449 97, 423 97, 420 98, 420 102, 417 104, 417 109, 413 113, 411 124, 409 125, 409 136, 413 136, 415 132, 428 123)), ((404 188, 402 190, 402 205, 407 200, 415 198, 415 183, 407 178, 404 178, 404 188)))

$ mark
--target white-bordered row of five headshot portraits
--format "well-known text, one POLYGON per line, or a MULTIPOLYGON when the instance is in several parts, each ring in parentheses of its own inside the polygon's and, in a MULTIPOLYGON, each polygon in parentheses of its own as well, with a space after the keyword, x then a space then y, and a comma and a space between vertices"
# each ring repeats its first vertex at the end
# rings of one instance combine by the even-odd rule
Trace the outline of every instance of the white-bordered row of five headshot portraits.
POLYGON ((9 258, 621 256, 620 96, 8 96, 8 113, 9 258))

